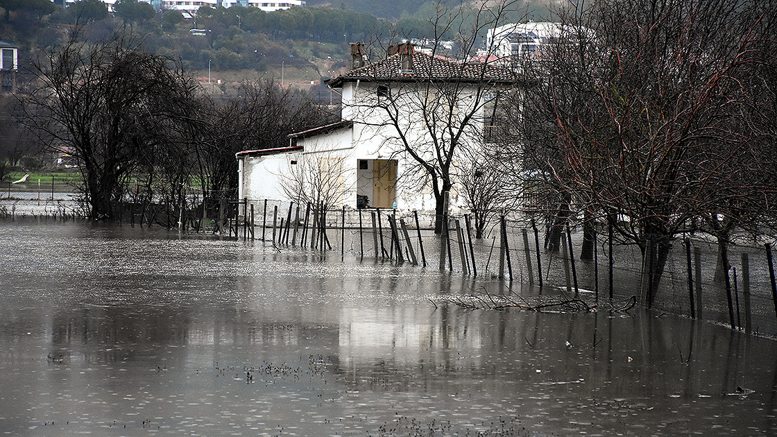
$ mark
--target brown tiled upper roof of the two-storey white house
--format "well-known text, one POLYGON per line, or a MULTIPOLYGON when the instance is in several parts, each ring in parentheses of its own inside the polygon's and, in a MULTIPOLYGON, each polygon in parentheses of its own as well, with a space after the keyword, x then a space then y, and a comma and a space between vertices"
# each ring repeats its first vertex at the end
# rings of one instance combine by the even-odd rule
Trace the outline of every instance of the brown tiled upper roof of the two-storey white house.
POLYGON ((483 63, 463 63, 448 58, 441 58, 413 51, 413 69, 402 71, 402 54, 396 53, 381 61, 364 65, 343 75, 329 80, 329 86, 337 88, 343 82, 362 81, 396 81, 415 82, 419 80, 432 81, 465 81, 492 82, 511 84, 518 82, 513 72, 483 63))

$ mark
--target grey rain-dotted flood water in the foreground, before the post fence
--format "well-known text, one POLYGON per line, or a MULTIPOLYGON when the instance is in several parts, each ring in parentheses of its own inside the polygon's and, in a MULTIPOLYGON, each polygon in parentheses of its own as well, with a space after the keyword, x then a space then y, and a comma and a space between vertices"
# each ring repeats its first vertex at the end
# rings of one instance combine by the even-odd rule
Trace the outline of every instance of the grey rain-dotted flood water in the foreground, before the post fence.
POLYGON ((777 343, 709 323, 466 309, 505 288, 157 228, 0 248, 9 435, 777 435, 777 343))

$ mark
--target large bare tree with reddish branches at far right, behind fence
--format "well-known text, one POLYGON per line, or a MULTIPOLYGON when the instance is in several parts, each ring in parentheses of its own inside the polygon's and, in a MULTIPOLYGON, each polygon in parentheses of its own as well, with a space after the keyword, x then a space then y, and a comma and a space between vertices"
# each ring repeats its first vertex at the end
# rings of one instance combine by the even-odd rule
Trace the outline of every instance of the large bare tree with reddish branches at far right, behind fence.
POLYGON ((744 109, 765 105, 749 84, 777 50, 775 13, 755 1, 594 0, 561 12, 566 36, 524 65, 540 79, 524 121, 552 134, 524 156, 559 205, 639 245, 648 304, 674 236, 697 218, 730 229, 768 211, 772 177, 744 175, 760 156, 744 109))

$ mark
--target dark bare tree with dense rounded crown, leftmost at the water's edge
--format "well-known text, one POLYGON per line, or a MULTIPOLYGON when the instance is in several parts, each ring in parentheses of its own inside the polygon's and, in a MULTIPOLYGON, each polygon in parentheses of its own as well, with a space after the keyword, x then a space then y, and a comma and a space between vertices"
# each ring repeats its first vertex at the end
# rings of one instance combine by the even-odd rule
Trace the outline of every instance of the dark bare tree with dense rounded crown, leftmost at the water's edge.
POLYGON ((33 62, 40 86, 25 97, 27 121, 51 149, 73 153, 90 217, 115 217, 160 126, 191 107, 193 82, 170 65, 131 34, 86 43, 77 27, 33 62))

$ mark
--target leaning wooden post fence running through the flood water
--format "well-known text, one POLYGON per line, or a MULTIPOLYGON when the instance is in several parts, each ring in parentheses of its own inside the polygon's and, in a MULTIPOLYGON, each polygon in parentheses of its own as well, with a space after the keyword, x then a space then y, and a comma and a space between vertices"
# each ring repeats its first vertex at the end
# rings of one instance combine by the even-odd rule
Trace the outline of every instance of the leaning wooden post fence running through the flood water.
MULTIPOLYGON (((71 219, 81 217, 82 210, 68 199, 0 199, 0 216, 71 219)), ((637 246, 612 241, 606 229, 599 229, 605 232, 595 236, 594 257, 580 260, 581 230, 568 229, 559 250, 546 250, 545 229, 538 229, 520 212, 498 219, 482 239, 474 238, 469 215, 451 215, 437 235, 431 230, 434 216, 415 211, 315 208, 265 199, 206 205, 200 201, 199 206, 188 209, 167 201, 125 203, 119 219, 130 225, 161 225, 262 241, 277 248, 304 247, 328 259, 418 265, 514 282, 533 286, 538 293, 563 293, 591 303, 632 295, 645 301, 642 253, 637 246)), ((771 250, 756 243, 730 246, 727 272, 719 267, 717 251, 716 243, 709 239, 688 236, 675 240, 653 307, 777 337, 771 250)))

